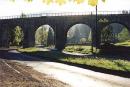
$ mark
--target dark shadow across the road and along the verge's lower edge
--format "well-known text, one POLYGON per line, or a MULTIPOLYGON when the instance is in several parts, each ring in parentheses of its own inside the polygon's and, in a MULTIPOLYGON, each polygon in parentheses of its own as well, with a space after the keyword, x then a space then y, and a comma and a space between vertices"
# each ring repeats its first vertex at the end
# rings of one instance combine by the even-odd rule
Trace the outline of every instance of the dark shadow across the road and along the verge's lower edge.
MULTIPOLYGON (((107 73, 107 74, 130 78, 129 71, 110 70, 110 69, 105 69, 105 68, 95 67, 95 66, 90 66, 90 65, 85 65, 85 64, 77 64, 77 63, 61 61, 60 58, 62 56, 77 57, 77 55, 74 56, 74 55, 65 54, 62 52, 57 52, 55 54, 55 52, 57 52, 57 51, 54 51, 54 52, 37 51, 37 52, 27 52, 27 53, 26 52, 16 53, 16 52, 11 52, 11 50, 0 50, 0 58, 7 59, 7 60, 19 60, 19 61, 45 61, 45 60, 47 60, 47 61, 51 61, 51 62, 59 62, 59 63, 64 63, 64 64, 68 64, 68 65, 72 65, 72 66, 77 66, 77 67, 81 67, 84 69, 90 69, 90 70, 93 70, 96 72, 107 73), (49 57, 48 57, 48 54, 49 54, 49 57)), ((94 56, 95 55, 88 55, 88 57, 90 57, 90 58, 91 57, 95 58, 94 56)), ((100 56, 100 55, 98 55, 98 56, 100 56)))

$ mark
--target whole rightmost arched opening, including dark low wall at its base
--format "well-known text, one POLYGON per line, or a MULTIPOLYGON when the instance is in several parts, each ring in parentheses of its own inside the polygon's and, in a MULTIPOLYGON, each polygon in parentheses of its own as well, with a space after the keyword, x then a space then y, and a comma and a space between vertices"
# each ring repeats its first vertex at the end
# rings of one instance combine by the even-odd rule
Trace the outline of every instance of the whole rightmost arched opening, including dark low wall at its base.
POLYGON ((112 23, 101 31, 101 53, 128 54, 130 52, 130 32, 119 23, 112 23))

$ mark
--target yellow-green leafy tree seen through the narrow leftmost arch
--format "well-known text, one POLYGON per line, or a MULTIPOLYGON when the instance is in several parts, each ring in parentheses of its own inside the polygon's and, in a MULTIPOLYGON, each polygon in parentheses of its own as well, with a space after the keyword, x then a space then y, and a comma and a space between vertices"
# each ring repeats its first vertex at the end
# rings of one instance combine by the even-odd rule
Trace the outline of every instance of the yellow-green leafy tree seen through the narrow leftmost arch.
POLYGON ((23 41, 23 31, 19 26, 16 26, 14 29, 14 40, 13 45, 20 46, 20 43, 23 41))

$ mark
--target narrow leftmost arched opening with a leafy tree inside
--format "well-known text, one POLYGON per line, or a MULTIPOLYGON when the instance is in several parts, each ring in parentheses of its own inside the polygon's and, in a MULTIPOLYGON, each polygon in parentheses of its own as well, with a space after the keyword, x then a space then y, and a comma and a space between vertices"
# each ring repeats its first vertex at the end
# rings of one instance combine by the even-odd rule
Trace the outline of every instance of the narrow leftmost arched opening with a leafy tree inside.
POLYGON ((9 46, 10 47, 22 47, 23 46, 24 33, 20 26, 16 26, 9 31, 9 46))

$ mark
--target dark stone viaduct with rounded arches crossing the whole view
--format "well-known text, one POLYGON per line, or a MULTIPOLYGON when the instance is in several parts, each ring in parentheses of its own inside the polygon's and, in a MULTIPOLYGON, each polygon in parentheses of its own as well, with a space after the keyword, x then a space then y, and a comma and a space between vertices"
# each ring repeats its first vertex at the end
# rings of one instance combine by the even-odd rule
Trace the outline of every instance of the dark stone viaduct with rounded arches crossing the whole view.
POLYGON ((41 25, 50 25, 55 33, 55 48, 62 50, 67 40, 67 32, 75 24, 86 24, 92 29, 93 45, 100 45, 100 30, 111 23, 119 23, 130 30, 130 14, 100 14, 97 15, 62 15, 62 16, 39 16, 27 18, 0 19, 0 47, 9 47, 10 29, 20 26, 24 32, 24 47, 35 45, 35 31, 41 25))

